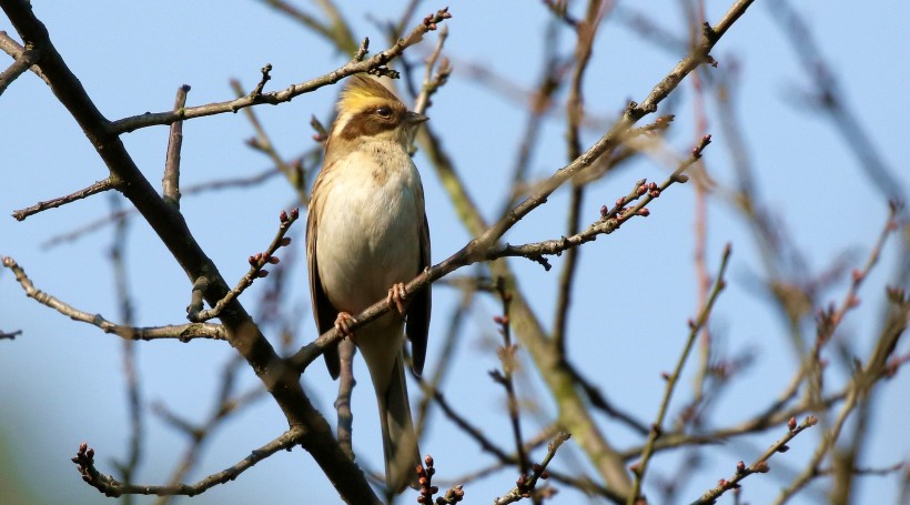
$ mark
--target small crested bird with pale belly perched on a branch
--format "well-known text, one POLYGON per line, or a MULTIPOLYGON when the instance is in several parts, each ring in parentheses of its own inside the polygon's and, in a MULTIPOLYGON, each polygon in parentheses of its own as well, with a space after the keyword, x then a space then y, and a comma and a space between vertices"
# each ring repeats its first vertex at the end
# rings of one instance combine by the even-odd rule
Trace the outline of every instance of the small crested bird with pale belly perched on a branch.
MULTIPOLYGON (((386 484, 401 493, 408 484, 418 487, 421 465, 402 345, 406 334, 419 375, 431 297, 428 286, 412 296, 403 283, 429 265, 423 184, 408 154, 415 129, 427 118, 361 74, 342 91, 337 112, 306 220, 310 295, 320 333, 337 327, 363 354, 380 406, 386 484), (351 314, 383 296, 397 312, 352 334, 351 314)), ((325 362, 337 378, 337 347, 326 350, 325 362)))

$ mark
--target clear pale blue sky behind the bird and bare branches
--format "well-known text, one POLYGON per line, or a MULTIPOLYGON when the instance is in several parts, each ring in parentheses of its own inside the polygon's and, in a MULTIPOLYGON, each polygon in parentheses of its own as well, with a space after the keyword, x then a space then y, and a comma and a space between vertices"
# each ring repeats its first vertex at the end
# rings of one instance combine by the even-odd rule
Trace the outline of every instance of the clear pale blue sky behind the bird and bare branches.
MULTIPOLYGON (((266 62, 274 67, 266 90, 274 90, 323 74, 345 60, 322 40, 255 1, 33 3, 58 50, 109 119, 169 110, 176 88, 183 83, 192 85, 191 105, 230 99, 233 93, 228 80, 237 78, 250 88, 266 62)), ((315 10, 301 3, 304 9, 315 10)), ((371 8, 370 13, 348 9, 355 37, 368 36, 374 51, 386 44, 372 20, 396 17, 402 2, 392 3, 371 8)), ((619 3, 654 14, 661 27, 686 37, 677 2, 619 3)), ((711 22, 729 7, 727 1, 706 3, 711 22)), ((765 3, 756 2, 714 52, 720 65, 739 65, 738 113, 760 193, 807 253, 812 272, 823 271, 843 253, 848 253, 851 264, 859 266, 884 222, 886 205, 830 124, 807 112, 796 100, 801 90, 810 89, 809 80, 765 3)), ((419 12, 425 14, 439 7, 443 4, 424 2, 419 12)), ((574 10, 582 7, 574 6, 574 10)), ((840 79, 849 105, 860 114, 862 125, 906 191, 910 188, 906 125, 910 113, 910 40, 906 34, 910 4, 833 1, 800 4, 799 9, 810 21, 816 41, 840 79)), ((507 191, 526 113, 516 108, 516 97, 491 93, 488 88, 472 82, 466 65, 459 61, 484 64, 530 88, 540 73, 539 54, 545 42, 542 33, 549 14, 538 2, 464 2, 453 4, 451 10, 454 17, 447 21, 451 37, 445 52, 455 62, 455 72, 434 99, 428 115, 444 137, 445 148, 453 154, 472 195, 492 220, 507 191)), ((0 30, 14 33, 4 18, 0 19, 0 30)), ((427 51, 433 42, 435 38, 429 37, 429 42, 416 51, 427 51)), ((569 48, 573 40, 566 33, 560 43, 569 48)), ((598 34, 585 85, 589 113, 596 118, 615 117, 628 100, 641 100, 678 59, 679 54, 644 42, 633 37, 624 23, 609 20, 598 34)), ((4 68, 9 59, 0 57, 0 61, 4 68)), ((690 83, 684 83, 670 105, 677 114, 670 142, 679 152, 690 149, 695 135, 691 91, 690 83)), ((323 89, 290 104, 259 107, 256 113, 279 150, 291 156, 314 145, 307 125, 310 117, 328 118, 335 95, 336 89, 323 89)), ((661 113, 668 110, 666 107, 661 107, 661 113)), ((707 129, 714 134, 715 144, 706 151, 707 166, 718 180, 731 181, 729 151, 714 102, 709 101, 708 111, 707 129)), ((252 134, 243 114, 189 121, 184 125, 183 184, 244 176, 267 168, 265 156, 244 145, 252 134)), ((546 176, 564 164, 563 134, 562 119, 545 123, 545 134, 532 163, 535 178, 546 176)), ((585 144, 599 134, 596 129, 586 131, 585 144)), ((152 128, 123 137, 130 153, 153 183, 161 178, 166 135, 166 128, 152 128)), ((0 97, 0 160, 3 215, 107 175, 74 121, 33 74, 21 77, 0 97)), ((427 166, 419 154, 416 162, 427 166)), ((427 213, 433 260, 438 262, 461 249, 469 236, 455 220, 432 170, 423 173, 431 202, 427 213)), ((660 163, 640 162, 598 182, 585 202, 586 221, 594 221, 599 206, 625 194, 635 180, 659 181, 666 174, 667 168, 660 163)), ((650 218, 601 238, 585 246, 582 254, 585 273, 577 285, 570 321, 573 357, 614 402, 646 421, 654 418, 659 404, 659 373, 675 363, 686 334, 686 321, 696 311, 691 190, 674 188, 650 206, 650 218)), ((269 243, 280 210, 293 199, 291 189, 275 178, 249 191, 185 198, 182 210, 225 279, 235 280, 246 271, 246 256, 269 243)), ((516 226, 507 240, 519 243, 557 238, 563 233, 566 202, 565 192, 557 193, 544 209, 516 226)), ((81 310, 115 319, 113 277, 107 260, 110 228, 73 243, 42 248, 48 239, 110 210, 109 195, 101 195, 23 223, 2 218, 0 254, 16 257, 39 289, 81 310)), ((718 304, 715 330, 732 353, 760 350, 756 365, 722 398, 718 422, 729 425, 776 396, 789 381, 793 357, 779 319, 756 290, 760 263, 744 222, 722 203, 712 203, 710 211, 710 267, 716 269, 725 243, 731 242, 735 251, 730 289, 718 304)), ((303 229, 301 224, 292 231, 297 248, 303 243, 303 229)), ((185 275, 146 224, 134 220, 129 233, 128 265, 136 323, 182 322, 190 294, 185 275)), ((892 242, 886 248, 881 265, 860 292, 862 305, 841 329, 860 356, 868 354, 870 339, 879 329, 882 285, 899 262, 908 261, 898 257, 894 245, 892 242)), ((302 255, 302 250, 296 254, 302 255)), ((538 265, 514 262, 523 287, 547 326, 562 265, 560 259, 553 263, 557 269, 546 273, 538 265)), ((297 286, 285 303, 299 307, 300 324, 309 341, 315 336, 315 330, 305 272, 297 269, 293 274, 297 286)), ((253 286, 245 299, 255 300, 263 284, 253 286)), ((826 300, 842 299, 846 284, 836 287, 826 294, 826 300)), ((432 339, 439 342, 457 296, 445 287, 437 287, 434 294, 432 339)), ((497 365, 493 352, 497 341, 495 327, 484 314, 497 312, 495 304, 483 304, 479 315, 472 319, 462 345, 447 356, 455 360, 457 373, 445 392, 453 404, 468 412, 504 446, 510 446, 502 391, 486 374, 497 365)), ((111 458, 124 454, 129 432, 121 342, 27 300, 12 275, 3 271, 0 330, 17 329, 24 332, 21 337, 0 342, 0 456, 6 462, 4 479, 21 477, 19 485, 26 494, 19 496, 33 503, 104 502, 79 481, 68 459, 83 441, 95 447, 98 463, 107 472, 113 471, 111 458)), ((432 346, 428 370, 439 360, 432 346)), ((908 351, 906 339, 899 350, 908 351)), ((214 401, 219 371, 233 355, 226 344, 206 341, 141 344, 139 362, 145 401, 163 402, 189 418, 201 420, 214 401)), ((836 355, 829 357, 837 361, 836 355)), ((365 368, 360 374, 363 377, 365 368)), ((877 400, 887 407, 872 417, 874 436, 862 459, 867 465, 891 465, 910 456, 909 377, 904 370, 879 391, 877 400)), ((843 376, 831 374, 829 380, 838 384, 843 376)), ((247 372, 243 383, 253 386, 256 380, 247 372)), ((327 374, 320 366, 307 372, 305 383, 321 410, 331 414, 335 387, 327 374)), ((533 374, 523 376, 522 394, 534 397, 538 384, 533 374)), ((681 384, 683 393, 675 405, 688 397, 688 385, 681 384)), ((354 437, 358 457, 375 467, 382 450, 374 400, 367 390, 360 387, 355 394, 354 437)), ((553 405, 544 403, 539 408, 539 418, 550 418, 553 405)), ((609 436, 620 446, 636 442, 618 425, 606 425, 609 436)), ((153 417, 148 417, 146 426, 146 459, 139 481, 162 483, 182 452, 184 440, 153 417)), ((281 413, 269 400, 259 402, 219 431, 192 479, 234 464, 285 427, 281 413)), ((526 432, 534 433, 538 427, 529 420, 526 432)), ((737 461, 754 459, 781 433, 782 430, 770 431, 712 451, 708 468, 684 484, 684 498, 695 498, 718 478, 729 476, 737 461)), ((801 469, 799 463, 815 447, 816 436, 812 433, 793 441, 790 453, 772 459, 771 474, 750 477, 745 483, 745 498, 766 503, 775 497, 793 472, 801 469)), ((434 414, 428 443, 422 450, 436 457, 442 477, 459 475, 478 461, 489 461, 438 413, 434 414)), ((560 463, 578 459, 574 450, 557 456, 560 463)), ((676 456, 661 455, 656 472, 674 468, 676 461, 676 456)), ((472 484, 467 488, 468 503, 489 502, 513 482, 510 473, 503 473, 472 484)), ((894 503, 896 482, 893 476, 861 479, 858 503, 894 503)), ((809 493, 796 502, 816 503, 812 496, 823 495, 809 493)), ((3 497, 0 486, 0 502, 3 497)), ((310 457, 295 451, 260 463, 236 482, 218 486, 192 503, 332 503, 335 498, 310 457)), ((564 492, 556 503, 579 499, 579 495, 564 492)), ((725 499, 730 503, 729 497, 725 499)), ((140 498, 140 503, 150 502, 140 498)))

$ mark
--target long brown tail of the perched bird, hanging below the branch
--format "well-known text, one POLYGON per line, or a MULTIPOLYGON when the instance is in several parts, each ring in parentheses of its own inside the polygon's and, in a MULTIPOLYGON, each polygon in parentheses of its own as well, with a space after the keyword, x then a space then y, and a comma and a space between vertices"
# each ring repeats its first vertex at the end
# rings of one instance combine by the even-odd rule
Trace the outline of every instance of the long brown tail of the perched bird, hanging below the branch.
POLYGON ((401 353, 395 360, 388 387, 385 392, 376 391, 376 396, 383 428, 386 485, 395 493, 401 493, 407 485, 419 488, 416 468, 421 465, 421 453, 411 420, 401 353))

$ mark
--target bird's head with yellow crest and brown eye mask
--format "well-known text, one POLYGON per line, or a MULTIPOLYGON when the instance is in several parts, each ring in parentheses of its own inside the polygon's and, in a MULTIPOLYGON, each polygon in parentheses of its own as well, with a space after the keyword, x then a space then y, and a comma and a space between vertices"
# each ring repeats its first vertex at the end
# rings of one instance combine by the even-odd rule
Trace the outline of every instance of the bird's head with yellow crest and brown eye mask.
POLYGON ((338 117, 332 127, 330 144, 385 140, 406 147, 414 128, 427 117, 411 112, 378 81, 363 74, 351 78, 338 99, 338 117))

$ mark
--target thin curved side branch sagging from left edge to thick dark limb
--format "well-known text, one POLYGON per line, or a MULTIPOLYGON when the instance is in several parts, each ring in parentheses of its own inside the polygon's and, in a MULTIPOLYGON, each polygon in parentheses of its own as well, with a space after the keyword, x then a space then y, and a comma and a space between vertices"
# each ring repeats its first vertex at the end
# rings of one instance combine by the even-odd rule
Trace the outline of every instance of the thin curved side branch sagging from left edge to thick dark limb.
POLYGON ((13 275, 16 275, 16 280, 19 282, 19 285, 22 286, 22 290, 26 292, 27 296, 34 299, 38 303, 47 305, 73 321, 98 326, 104 333, 113 333, 121 339, 131 341, 150 341, 161 339, 176 339, 181 342, 190 342, 193 339, 228 340, 228 331, 220 324, 191 323, 168 326, 135 327, 112 323, 102 317, 101 314, 82 312, 64 302, 61 302, 57 297, 36 289, 34 284, 31 282, 31 279, 26 275, 26 271, 22 270, 22 267, 19 266, 12 257, 2 256, 1 261, 3 266, 10 269, 13 275))

